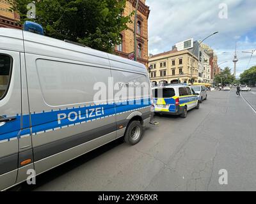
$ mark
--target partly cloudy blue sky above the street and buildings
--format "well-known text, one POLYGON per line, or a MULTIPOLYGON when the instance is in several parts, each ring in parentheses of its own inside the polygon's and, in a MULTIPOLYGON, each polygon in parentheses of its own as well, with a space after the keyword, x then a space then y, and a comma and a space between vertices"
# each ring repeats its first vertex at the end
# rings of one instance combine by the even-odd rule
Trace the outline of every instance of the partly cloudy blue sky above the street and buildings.
POLYGON ((179 41, 203 40, 214 49, 218 62, 234 71, 237 41, 237 77, 246 68, 256 66, 256 0, 146 0, 148 18, 148 52, 159 54, 172 50, 179 41), (250 63, 249 63, 250 62, 250 63))

